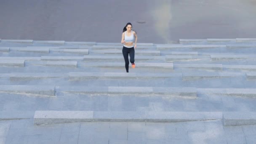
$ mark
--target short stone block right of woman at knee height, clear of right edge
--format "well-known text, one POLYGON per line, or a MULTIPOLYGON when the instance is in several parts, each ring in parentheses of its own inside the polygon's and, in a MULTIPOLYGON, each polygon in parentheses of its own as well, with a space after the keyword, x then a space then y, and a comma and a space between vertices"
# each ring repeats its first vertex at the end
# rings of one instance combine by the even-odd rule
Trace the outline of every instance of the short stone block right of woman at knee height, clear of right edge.
POLYGON ((176 55, 166 55, 166 61, 199 61, 199 60, 211 60, 210 56, 176 56, 176 55))

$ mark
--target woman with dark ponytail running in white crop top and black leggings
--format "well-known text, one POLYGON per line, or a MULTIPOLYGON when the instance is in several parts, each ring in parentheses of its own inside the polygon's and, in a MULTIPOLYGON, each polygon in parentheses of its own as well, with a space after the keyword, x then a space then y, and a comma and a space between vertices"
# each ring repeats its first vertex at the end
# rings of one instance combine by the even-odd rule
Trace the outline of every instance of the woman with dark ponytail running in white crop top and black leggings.
POLYGON ((126 72, 129 72, 129 58, 128 55, 130 55, 130 61, 131 61, 131 67, 135 68, 134 64, 134 48, 136 49, 137 45, 137 34, 136 32, 132 31, 132 25, 131 23, 127 23, 126 26, 123 28, 123 34, 122 34, 122 40, 121 43, 123 45, 123 58, 125 59, 125 69, 126 72), (135 37, 135 43, 133 45, 135 37))

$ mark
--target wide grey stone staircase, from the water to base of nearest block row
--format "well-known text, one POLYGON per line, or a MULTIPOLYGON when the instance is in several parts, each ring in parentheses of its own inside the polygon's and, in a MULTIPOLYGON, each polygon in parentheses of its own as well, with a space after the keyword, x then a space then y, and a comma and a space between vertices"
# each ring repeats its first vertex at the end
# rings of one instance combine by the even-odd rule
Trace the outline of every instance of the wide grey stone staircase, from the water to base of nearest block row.
POLYGON ((0 119, 256 124, 256 39, 138 43, 129 73, 121 50, 120 43, 0 40, 0 111, 29 115, 0 119))

